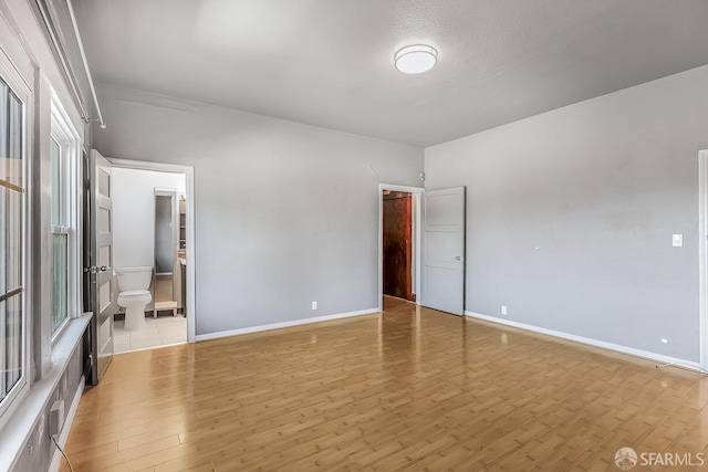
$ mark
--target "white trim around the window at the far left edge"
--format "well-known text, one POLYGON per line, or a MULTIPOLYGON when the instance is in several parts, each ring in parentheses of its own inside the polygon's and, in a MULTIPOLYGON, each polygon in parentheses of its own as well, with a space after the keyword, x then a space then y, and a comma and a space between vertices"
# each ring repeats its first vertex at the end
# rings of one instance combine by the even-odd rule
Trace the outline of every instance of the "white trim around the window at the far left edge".
POLYGON ((22 76, 12 65, 10 59, 6 55, 4 51, 0 49, 0 76, 3 82, 10 87, 10 90, 20 98, 23 105, 22 113, 22 171, 24 177, 24 199, 22 206, 22 376, 15 384, 15 386, 8 392, 8 395, 0 402, 0 430, 4 427, 8 420, 12 417, 12 413, 19 408, 22 399, 27 397, 30 386, 32 384, 32 365, 30 363, 30 349, 32 347, 32 316, 29 312, 32 307, 32 234, 30 221, 30 209, 32 206, 32 174, 30 161, 32 159, 32 150, 30 146, 29 136, 32 136, 33 132, 33 95, 30 87, 22 80, 22 76))

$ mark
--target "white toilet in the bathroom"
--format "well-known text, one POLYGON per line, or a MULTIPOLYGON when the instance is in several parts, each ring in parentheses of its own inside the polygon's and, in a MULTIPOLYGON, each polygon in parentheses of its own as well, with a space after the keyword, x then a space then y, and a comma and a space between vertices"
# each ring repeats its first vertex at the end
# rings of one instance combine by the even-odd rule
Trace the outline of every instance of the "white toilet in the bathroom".
POLYGON ((118 276, 118 305, 125 307, 125 329, 145 327, 145 306, 153 296, 148 289, 153 279, 153 268, 116 268, 118 276))

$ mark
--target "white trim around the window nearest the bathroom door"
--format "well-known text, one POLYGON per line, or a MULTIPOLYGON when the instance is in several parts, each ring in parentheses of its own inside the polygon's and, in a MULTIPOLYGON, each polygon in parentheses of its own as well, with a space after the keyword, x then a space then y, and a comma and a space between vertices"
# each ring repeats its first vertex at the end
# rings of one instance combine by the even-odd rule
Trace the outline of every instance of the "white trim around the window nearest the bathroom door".
MULTIPOLYGON (((77 318, 82 315, 82 263, 81 263, 81 250, 79 237, 81 232, 81 166, 80 166, 80 151, 81 151, 81 138, 79 133, 72 125, 69 114, 62 106, 59 95, 52 88, 51 91, 51 137, 56 140, 62 149, 62 160, 60 162, 63 174, 62 182, 62 223, 66 225, 51 225, 52 234, 66 234, 69 237, 66 248, 66 268, 69 276, 66 279, 66 302, 67 302, 67 317, 62 325, 52 334, 52 314, 51 311, 46 313, 46 319, 42 319, 42 323, 46 323, 49 328, 46 333, 50 334, 51 343, 53 346, 58 339, 61 338, 64 329, 70 319, 77 318)), ((52 261, 50 253, 50 261, 52 261)), ((48 343, 43 343, 48 345, 48 343)), ((44 356, 43 356, 44 357, 44 356)))

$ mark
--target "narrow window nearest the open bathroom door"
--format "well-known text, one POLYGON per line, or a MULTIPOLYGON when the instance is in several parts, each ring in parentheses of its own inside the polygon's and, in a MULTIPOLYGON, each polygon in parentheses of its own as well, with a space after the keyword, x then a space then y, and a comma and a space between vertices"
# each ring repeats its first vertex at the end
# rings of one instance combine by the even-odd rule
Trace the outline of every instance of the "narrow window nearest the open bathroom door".
POLYGON ((79 141, 61 104, 52 97, 51 169, 51 334, 55 338, 75 315, 76 287, 76 154, 79 141))

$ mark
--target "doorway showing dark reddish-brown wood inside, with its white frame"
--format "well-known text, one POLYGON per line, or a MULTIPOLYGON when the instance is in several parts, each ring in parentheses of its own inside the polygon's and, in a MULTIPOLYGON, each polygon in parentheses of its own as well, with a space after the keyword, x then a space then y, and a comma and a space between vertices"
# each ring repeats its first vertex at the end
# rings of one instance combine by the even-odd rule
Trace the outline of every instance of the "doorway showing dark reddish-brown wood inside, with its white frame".
POLYGON ((378 301, 416 303, 419 293, 419 197, 417 187, 379 185, 378 301), (389 298, 392 300, 392 298, 389 298))

